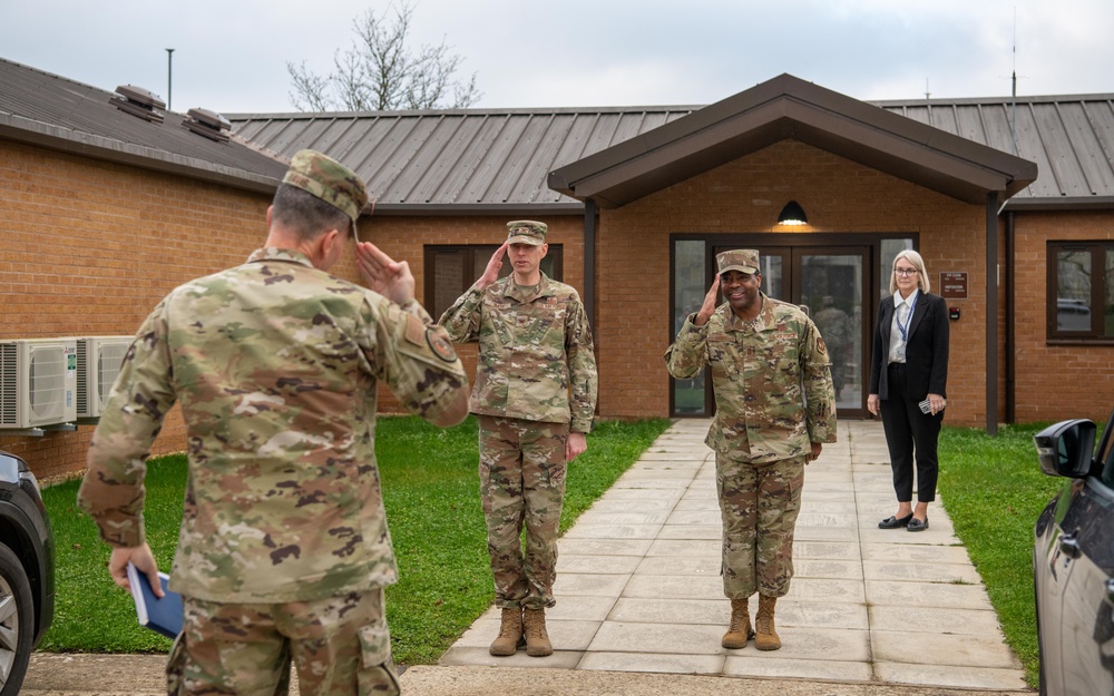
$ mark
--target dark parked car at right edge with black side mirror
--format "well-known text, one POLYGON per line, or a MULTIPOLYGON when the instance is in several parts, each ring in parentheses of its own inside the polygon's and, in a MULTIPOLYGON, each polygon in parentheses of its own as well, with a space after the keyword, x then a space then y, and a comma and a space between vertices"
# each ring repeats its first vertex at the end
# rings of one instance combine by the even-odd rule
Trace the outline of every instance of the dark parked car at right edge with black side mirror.
POLYGON ((1042 696, 1114 694, 1114 413, 1095 449, 1088 420, 1034 437, 1040 469, 1066 477, 1033 549, 1042 696))

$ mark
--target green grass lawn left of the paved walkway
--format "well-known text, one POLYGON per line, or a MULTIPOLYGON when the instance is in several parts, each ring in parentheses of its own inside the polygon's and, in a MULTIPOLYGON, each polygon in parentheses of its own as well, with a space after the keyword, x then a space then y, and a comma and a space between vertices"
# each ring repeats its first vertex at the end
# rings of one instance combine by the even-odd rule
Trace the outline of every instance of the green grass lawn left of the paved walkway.
MULTIPOLYGON (((568 469, 561 530, 586 510, 668 428, 665 419, 605 421, 568 469)), ((490 605, 494 594, 479 501, 475 418, 441 430, 417 418, 381 418, 377 454, 401 579, 387 590, 394 658, 429 664, 490 605)), ((153 460, 145 514, 155 557, 168 570, 177 545, 186 463, 153 460)), ((108 577, 108 547, 75 500, 79 481, 42 492, 57 543, 55 620, 41 650, 166 651, 169 640, 140 628, 131 596, 108 577)))

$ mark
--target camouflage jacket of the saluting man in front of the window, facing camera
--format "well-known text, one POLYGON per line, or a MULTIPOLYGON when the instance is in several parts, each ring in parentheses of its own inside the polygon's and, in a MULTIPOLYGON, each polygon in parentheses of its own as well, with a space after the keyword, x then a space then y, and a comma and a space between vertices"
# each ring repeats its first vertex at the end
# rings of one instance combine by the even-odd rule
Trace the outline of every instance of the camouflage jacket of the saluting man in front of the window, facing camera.
POLYGON ((479 341, 472 413, 592 430, 596 357, 588 316, 571 286, 543 273, 534 292, 516 286, 511 275, 482 291, 472 286, 439 323, 457 343, 479 341))

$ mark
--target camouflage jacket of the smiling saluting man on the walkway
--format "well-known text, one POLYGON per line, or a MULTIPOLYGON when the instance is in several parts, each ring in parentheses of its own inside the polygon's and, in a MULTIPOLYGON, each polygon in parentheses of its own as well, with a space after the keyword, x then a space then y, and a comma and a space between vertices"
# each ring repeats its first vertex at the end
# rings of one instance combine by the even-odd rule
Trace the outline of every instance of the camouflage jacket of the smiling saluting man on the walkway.
POLYGON ((761 297, 754 322, 726 303, 703 326, 688 316, 665 353, 670 374, 681 380, 711 365, 716 411, 705 443, 753 463, 836 442, 836 394, 820 332, 795 305, 761 297))

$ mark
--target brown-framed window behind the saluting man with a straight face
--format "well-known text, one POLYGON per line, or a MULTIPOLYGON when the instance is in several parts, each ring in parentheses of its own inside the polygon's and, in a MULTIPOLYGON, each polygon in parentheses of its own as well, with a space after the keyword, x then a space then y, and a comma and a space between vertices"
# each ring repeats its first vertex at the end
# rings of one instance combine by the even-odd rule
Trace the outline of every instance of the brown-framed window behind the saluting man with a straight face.
MULTIPOLYGON (((426 310, 434 321, 483 274, 497 248, 498 244, 426 245, 426 310)), ((561 245, 550 244, 541 259, 541 272, 561 281, 561 245)), ((504 258, 499 277, 507 277, 511 271, 510 262, 504 258)))

